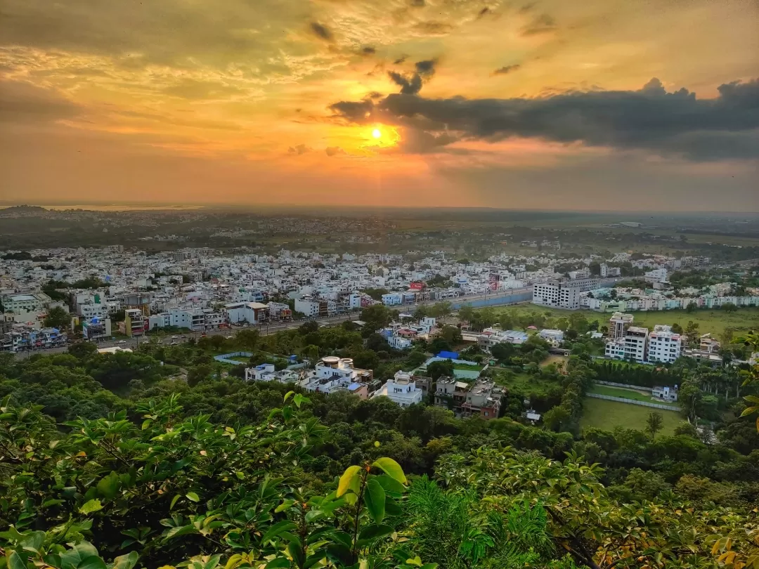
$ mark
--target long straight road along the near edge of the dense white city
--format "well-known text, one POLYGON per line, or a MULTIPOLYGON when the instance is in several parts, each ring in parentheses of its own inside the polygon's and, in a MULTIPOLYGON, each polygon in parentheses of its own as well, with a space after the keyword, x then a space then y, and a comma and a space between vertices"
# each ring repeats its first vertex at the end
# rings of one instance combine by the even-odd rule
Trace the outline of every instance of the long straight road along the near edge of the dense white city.
MULTIPOLYGON (((524 287, 524 288, 515 288, 509 291, 505 292, 499 292, 495 294, 467 294, 461 297, 454 297, 454 298, 448 298, 444 299, 449 302, 455 302, 455 303, 470 303, 474 302, 476 300, 487 300, 492 299, 493 297, 501 297, 502 302, 496 302, 489 304, 488 306, 491 307, 497 307, 497 306, 503 306, 505 304, 514 304, 517 301, 512 300, 513 297, 519 297, 521 294, 528 293, 532 291, 532 287, 524 287)), ((417 310, 418 307, 422 306, 431 306, 433 304, 439 303, 441 300, 424 300, 420 303, 414 303, 414 304, 402 304, 397 307, 392 307, 397 310, 403 310, 406 312, 414 312, 414 310, 417 310)), ((345 322, 345 320, 357 320, 359 318, 358 311, 353 313, 346 313, 341 314, 339 316, 326 316, 323 318, 313 318, 311 320, 315 320, 319 322, 320 325, 328 326, 328 325, 335 325, 339 324, 340 322, 345 322)), ((172 342, 182 343, 186 342, 190 338, 200 338, 203 334, 206 334, 208 336, 215 336, 215 335, 225 335, 225 336, 233 336, 240 332, 241 330, 258 330, 262 335, 267 334, 275 334, 276 332, 281 332, 282 330, 288 330, 292 328, 298 328, 298 326, 302 325, 304 322, 307 322, 309 319, 301 319, 301 320, 293 320, 292 322, 272 322, 269 324, 261 324, 257 326, 248 326, 247 328, 242 326, 232 326, 228 329, 219 329, 219 330, 208 330, 206 332, 188 332, 187 334, 166 334, 166 335, 158 335, 158 336, 149 336, 146 338, 128 338, 126 340, 118 340, 118 341, 99 341, 96 342, 97 347, 128 347, 131 349, 136 348, 139 344, 143 344, 146 341, 151 341, 153 338, 158 338, 159 341, 163 345, 171 345, 172 342), (176 336, 176 338, 175 338, 176 336)), ((68 346, 61 346, 61 347, 51 347, 45 350, 35 350, 35 351, 24 351, 24 352, 17 352, 16 357, 20 359, 24 359, 27 357, 30 357, 33 354, 61 354, 65 351, 68 351, 68 346)))

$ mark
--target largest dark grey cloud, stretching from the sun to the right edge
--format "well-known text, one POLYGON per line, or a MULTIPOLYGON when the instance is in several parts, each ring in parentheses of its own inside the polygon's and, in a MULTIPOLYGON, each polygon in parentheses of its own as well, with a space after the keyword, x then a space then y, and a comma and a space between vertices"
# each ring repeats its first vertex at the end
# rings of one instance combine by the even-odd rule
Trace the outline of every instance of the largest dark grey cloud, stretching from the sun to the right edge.
POLYGON ((716 99, 681 89, 667 93, 659 80, 638 91, 564 93, 540 99, 424 99, 391 94, 372 105, 341 102, 335 115, 349 121, 388 121, 433 136, 453 133, 487 141, 532 137, 616 149, 642 149, 687 159, 759 158, 759 80, 726 83, 716 99))

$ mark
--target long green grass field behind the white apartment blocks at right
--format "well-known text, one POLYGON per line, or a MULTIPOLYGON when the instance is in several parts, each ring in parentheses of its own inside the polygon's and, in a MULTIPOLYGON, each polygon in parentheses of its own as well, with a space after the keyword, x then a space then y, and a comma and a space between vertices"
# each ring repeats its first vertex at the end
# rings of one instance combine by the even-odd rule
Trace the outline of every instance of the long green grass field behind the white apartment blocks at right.
MULTIPOLYGON (((560 310, 558 308, 539 307, 536 304, 524 303, 518 307, 502 308, 499 313, 508 313, 512 316, 531 313, 551 313, 552 316, 569 316, 572 313, 580 313, 586 319, 593 322, 598 320, 602 325, 606 325, 611 313, 595 312, 594 310, 560 310)), ((741 335, 751 330, 759 330, 759 308, 745 307, 739 308, 734 313, 726 313, 724 310, 697 310, 694 313, 687 313, 685 310, 656 310, 651 312, 634 312, 632 313, 636 326, 644 326, 653 329, 656 324, 679 324, 682 329, 688 325, 689 321, 698 322, 699 332, 706 334, 711 332, 716 338, 731 329, 735 335, 741 335)))

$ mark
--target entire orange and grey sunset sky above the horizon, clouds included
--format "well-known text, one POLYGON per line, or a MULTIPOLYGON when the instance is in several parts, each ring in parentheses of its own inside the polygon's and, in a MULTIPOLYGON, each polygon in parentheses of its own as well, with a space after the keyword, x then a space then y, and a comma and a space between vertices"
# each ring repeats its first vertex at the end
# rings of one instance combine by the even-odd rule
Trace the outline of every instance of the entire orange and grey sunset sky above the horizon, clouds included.
POLYGON ((0 200, 759 211, 757 0, 3 0, 0 200))

